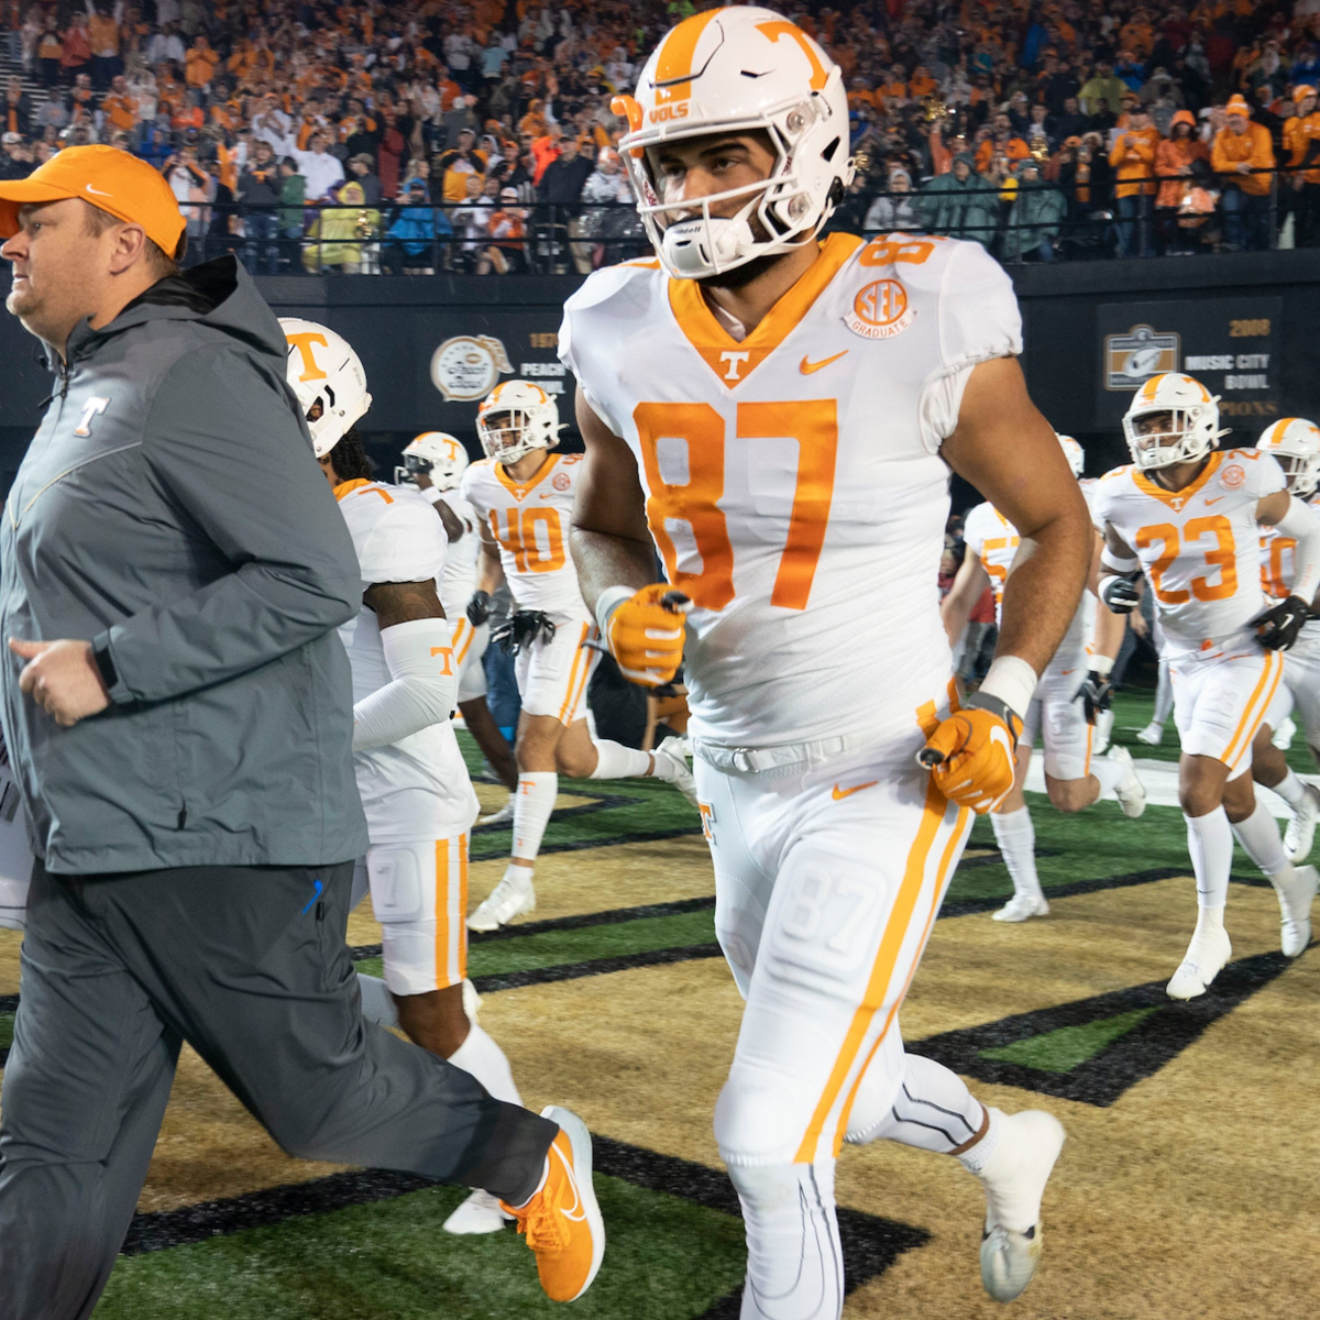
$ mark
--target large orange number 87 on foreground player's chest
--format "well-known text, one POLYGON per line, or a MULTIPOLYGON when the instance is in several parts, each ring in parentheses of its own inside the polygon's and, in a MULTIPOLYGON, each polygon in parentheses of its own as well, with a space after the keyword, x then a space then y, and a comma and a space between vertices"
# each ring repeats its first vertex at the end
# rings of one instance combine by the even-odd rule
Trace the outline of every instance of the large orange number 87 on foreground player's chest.
MULTIPOLYGON (((788 521, 788 540, 775 576, 771 605, 805 610, 825 544, 838 418, 832 399, 800 403, 739 404, 735 434, 739 440, 788 436, 797 441, 797 488, 788 521)), ((642 444, 642 462, 651 496, 647 521, 660 546, 669 581, 704 610, 722 610, 734 598, 734 552, 729 524, 718 500, 725 492, 725 424, 709 404, 638 404, 632 413, 642 444), (660 474, 656 446, 661 438, 682 440, 688 449, 688 480, 672 484, 660 474), (665 521, 692 528, 701 573, 681 573, 665 521)))

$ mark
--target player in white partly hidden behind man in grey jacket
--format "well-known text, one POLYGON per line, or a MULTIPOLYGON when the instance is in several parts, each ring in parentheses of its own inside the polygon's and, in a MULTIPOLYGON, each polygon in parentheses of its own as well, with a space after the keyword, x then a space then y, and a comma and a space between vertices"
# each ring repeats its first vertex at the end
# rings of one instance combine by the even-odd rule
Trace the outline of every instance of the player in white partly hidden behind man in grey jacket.
MULTIPOLYGON (((289 385, 362 573, 362 610, 339 630, 352 671, 354 770, 371 840, 354 876, 352 907, 370 884, 388 987, 387 994, 378 978, 359 975, 363 1011, 397 1022, 496 1100, 520 1105, 504 1052, 469 1015, 475 991, 465 979, 463 917, 477 795, 449 722, 454 652, 436 593, 445 529, 420 491, 371 480, 352 430, 371 407, 356 352, 326 326, 293 318, 281 325, 289 385)), ((445 1228, 492 1233, 507 1218, 494 1196, 478 1191, 445 1228)))

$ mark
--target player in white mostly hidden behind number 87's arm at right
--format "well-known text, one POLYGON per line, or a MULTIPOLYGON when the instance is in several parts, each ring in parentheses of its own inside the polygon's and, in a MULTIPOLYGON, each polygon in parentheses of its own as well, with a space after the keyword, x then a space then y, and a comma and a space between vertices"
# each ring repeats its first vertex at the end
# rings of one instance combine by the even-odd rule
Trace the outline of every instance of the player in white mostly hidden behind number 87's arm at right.
MULTIPOLYGON (((1060 436, 1059 444, 1073 475, 1080 480, 1086 462, 1081 445, 1072 436, 1060 436)), ((1093 482, 1081 482, 1082 495, 1089 495, 1093 486, 1093 482)), ((941 606, 950 645, 957 643, 987 586, 994 589, 997 618, 1002 615, 1003 589, 1019 546, 1016 528, 990 503, 977 504, 968 513, 962 535, 968 553, 941 606)), ((1094 590, 1100 550, 1101 541, 1096 537, 1089 590, 1082 593, 1068 634, 1041 675, 1040 685, 1027 708, 1018 742, 1012 791, 990 816, 995 842, 1012 878, 1012 898, 994 913, 995 921, 1026 921, 1028 917, 1049 913, 1049 904, 1036 875, 1036 832, 1023 792, 1031 748, 1038 735, 1045 744, 1045 792, 1059 810, 1080 812, 1101 799, 1115 797, 1126 816, 1137 817, 1146 810, 1146 789, 1133 770, 1127 748, 1111 747, 1104 758, 1092 755, 1094 717, 1100 714, 1097 706, 1106 704, 1104 697, 1098 701, 1093 698, 1086 708, 1076 700, 1078 684, 1088 669, 1100 677, 1107 677, 1113 668, 1109 657, 1088 657, 1086 639, 1092 634, 1097 612, 1094 590), (1096 665, 1100 665, 1100 671, 1096 671, 1096 665)), ((1121 624, 1117 631, 1121 639, 1121 624)))

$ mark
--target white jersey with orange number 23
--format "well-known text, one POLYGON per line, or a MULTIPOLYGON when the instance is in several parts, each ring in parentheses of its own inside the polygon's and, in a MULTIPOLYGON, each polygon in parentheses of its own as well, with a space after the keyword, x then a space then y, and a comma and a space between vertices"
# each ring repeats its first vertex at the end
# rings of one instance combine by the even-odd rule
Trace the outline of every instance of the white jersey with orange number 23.
POLYGON ((1214 450, 1180 491, 1131 465, 1097 483, 1096 525, 1113 527, 1140 560, 1171 659, 1254 645, 1250 623, 1269 605, 1255 507, 1283 488, 1283 469, 1257 449, 1214 450))

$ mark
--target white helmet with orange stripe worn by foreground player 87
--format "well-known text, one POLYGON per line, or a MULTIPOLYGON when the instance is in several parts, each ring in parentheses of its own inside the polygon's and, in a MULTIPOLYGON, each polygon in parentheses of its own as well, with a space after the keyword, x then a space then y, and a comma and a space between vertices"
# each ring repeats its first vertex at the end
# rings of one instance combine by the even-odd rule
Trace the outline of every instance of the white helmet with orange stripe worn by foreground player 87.
POLYGON ((700 280, 809 243, 853 181, 847 92, 838 65, 770 9, 708 9, 672 28, 642 70, 619 153, 660 263, 700 280), (768 178, 700 202, 664 201, 657 149, 711 133, 763 131, 777 158, 768 178), (733 215, 713 215, 727 202, 733 215))

